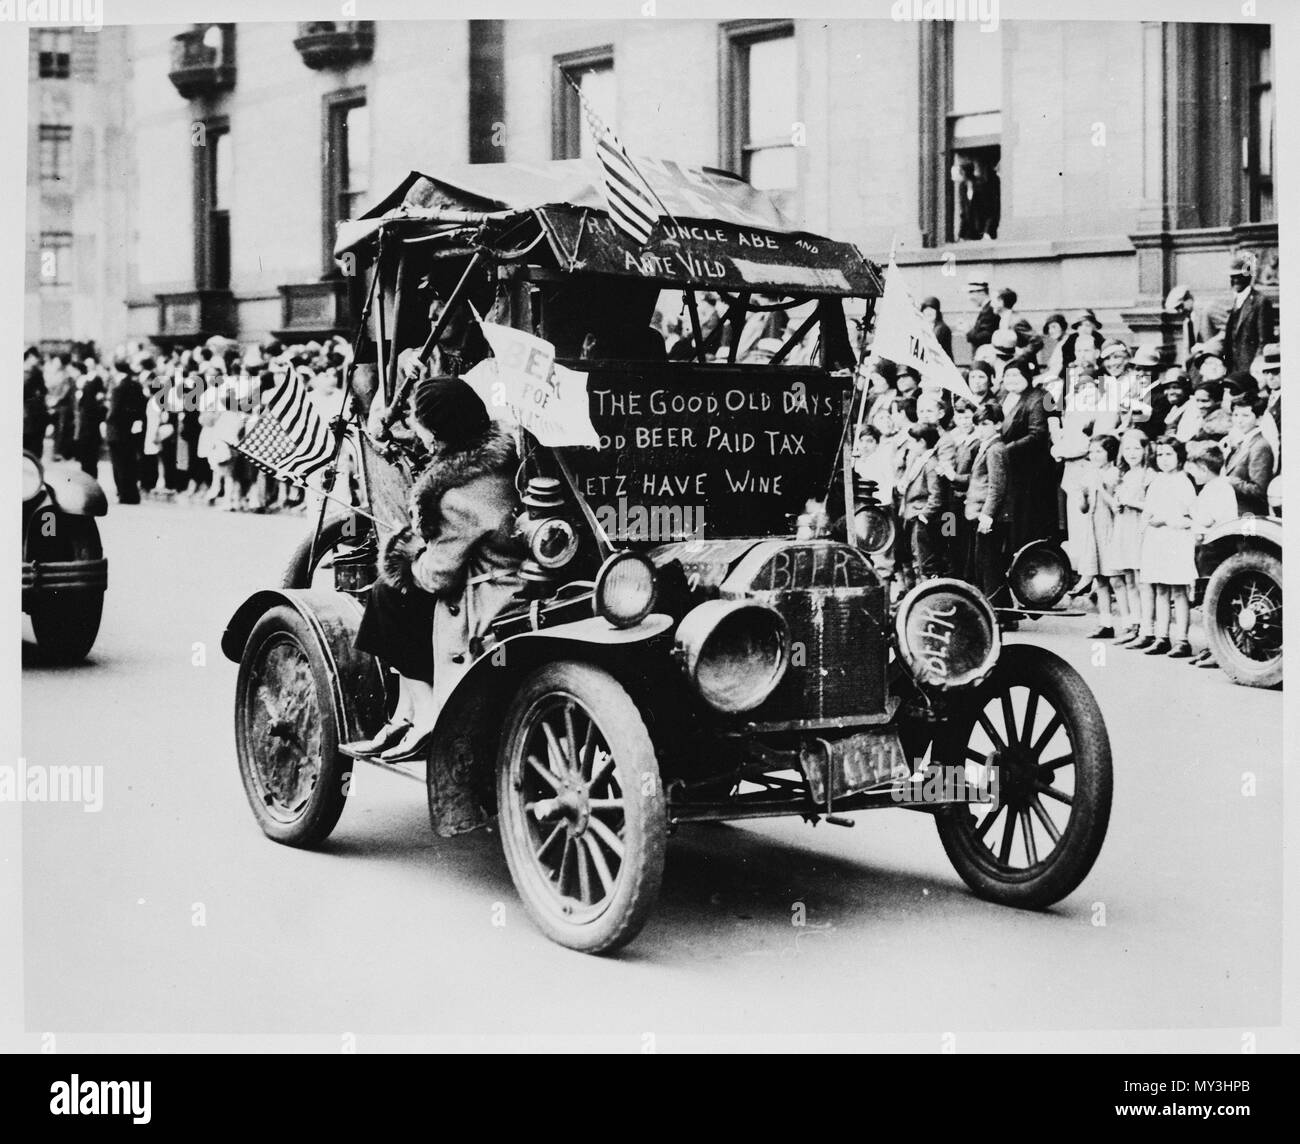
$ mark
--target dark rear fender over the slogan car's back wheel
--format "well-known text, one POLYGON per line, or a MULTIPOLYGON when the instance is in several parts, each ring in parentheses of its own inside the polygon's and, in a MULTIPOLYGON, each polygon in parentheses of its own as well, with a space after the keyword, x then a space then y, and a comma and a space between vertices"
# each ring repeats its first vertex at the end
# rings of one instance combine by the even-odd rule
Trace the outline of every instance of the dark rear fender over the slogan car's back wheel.
POLYGON ((346 592, 322 588, 272 588, 255 592, 230 618, 221 651, 238 663, 257 620, 274 607, 294 608, 316 634, 329 667, 332 702, 342 738, 374 734, 384 724, 384 677, 373 655, 355 646, 361 604, 346 592))

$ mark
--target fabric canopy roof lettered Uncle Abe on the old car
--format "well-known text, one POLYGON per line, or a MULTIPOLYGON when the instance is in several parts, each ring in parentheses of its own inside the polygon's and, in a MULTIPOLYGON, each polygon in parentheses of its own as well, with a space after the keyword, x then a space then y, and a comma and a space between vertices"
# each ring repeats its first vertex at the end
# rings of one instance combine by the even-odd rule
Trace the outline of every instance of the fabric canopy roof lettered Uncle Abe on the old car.
POLYGON ((711 168, 638 159, 659 198, 645 244, 604 208, 595 159, 481 162, 411 172, 359 220, 339 226, 335 257, 368 248, 393 226, 407 240, 438 240, 465 254, 486 246, 564 272, 620 274, 664 286, 764 294, 875 298, 878 269, 855 246, 797 228, 763 191, 711 168), (545 238, 545 244, 542 239, 545 238), (534 251, 537 254, 534 254, 534 251))

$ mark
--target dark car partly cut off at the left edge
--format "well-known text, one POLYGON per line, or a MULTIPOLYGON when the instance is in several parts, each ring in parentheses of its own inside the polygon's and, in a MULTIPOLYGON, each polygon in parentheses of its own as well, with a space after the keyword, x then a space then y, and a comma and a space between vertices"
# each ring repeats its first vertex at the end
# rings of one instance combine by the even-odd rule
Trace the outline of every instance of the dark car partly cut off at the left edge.
POLYGON ((22 455, 22 610, 51 663, 79 663, 99 634, 108 560, 96 516, 108 498, 74 468, 46 472, 22 455))

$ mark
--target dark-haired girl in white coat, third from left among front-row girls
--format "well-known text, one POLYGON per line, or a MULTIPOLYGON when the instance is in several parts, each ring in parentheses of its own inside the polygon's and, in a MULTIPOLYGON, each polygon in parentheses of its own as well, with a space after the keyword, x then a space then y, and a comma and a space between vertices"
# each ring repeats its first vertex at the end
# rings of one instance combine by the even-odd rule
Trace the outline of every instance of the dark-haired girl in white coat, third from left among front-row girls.
POLYGON ((1191 618, 1187 589, 1196 581, 1192 540, 1196 488, 1183 472, 1186 460, 1187 446, 1176 437, 1156 442, 1156 473, 1147 486, 1143 507, 1140 576, 1143 584, 1150 585, 1156 607, 1156 640, 1144 651, 1170 659, 1192 658, 1187 640, 1191 618))

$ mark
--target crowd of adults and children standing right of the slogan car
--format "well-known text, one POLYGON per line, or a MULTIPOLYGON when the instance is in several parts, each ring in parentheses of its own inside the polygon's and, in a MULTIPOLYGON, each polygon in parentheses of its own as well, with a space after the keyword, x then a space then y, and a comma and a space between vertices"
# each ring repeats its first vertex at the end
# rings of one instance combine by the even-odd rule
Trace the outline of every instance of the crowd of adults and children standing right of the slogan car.
MULTIPOLYGON (((1188 640, 1195 547, 1217 524, 1268 515, 1282 459, 1280 350, 1253 277, 1253 257, 1234 257, 1232 308, 1213 333, 1175 289, 1171 358, 1114 337, 1091 309, 1035 330, 1014 290, 991 295, 979 278, 968 396, 866 356, 854 468, 894 514, 906 578, 959 576, 1008 606, 1014 554, 1060 542, 1074 599, 1096 601, 1093 638, 1213 667, 1188 640)), ((922 312, 949 348, 939 300, 922 312)))

